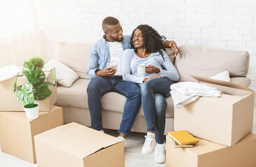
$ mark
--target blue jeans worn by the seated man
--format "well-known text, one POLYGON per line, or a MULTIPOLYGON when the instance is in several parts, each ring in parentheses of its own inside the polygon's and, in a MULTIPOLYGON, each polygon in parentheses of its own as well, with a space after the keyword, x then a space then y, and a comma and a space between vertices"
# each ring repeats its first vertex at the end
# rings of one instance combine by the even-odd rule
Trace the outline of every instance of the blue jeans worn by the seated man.
MULTIPOLYGON (((87 86, 91 127, 96 130, 103 129, 101 96, 109 92, 119 93, 127 98, 118 133, 129 136, 138 110, 141 107, 141 90, 137 84, 130 81, 123 81, 122 76, 93 77, 91 79, 87 86)), ((112 105, 115 106, 115 102, 112 105)))

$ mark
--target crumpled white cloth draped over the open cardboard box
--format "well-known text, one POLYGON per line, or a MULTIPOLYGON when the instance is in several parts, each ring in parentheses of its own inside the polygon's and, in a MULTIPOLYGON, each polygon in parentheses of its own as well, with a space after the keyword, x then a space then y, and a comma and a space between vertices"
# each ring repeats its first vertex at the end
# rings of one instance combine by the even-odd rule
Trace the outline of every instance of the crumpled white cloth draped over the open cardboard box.
POLYGON ((220 91, 197 82, 179 82, 171 85, 171 97, 175 107, 180 108, 197 100, 198 97, 220 97, 220 91))

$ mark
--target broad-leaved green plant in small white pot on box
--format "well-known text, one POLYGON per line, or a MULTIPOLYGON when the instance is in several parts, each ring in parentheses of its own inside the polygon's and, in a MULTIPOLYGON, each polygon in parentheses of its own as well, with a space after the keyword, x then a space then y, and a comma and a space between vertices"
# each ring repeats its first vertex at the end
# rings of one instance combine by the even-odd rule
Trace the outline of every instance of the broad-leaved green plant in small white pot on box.
MULTIPOLYGON (((52 91, 48 88, 50 85, 55 86, 55 77, 52 82, 45 82, 45 73, 35 67, 33 63, 24 62, 22 73, 27 77, 27 82, 17 86, 17 78, 14 84, 14 92, 17 95, 17 101, 24 104, 23 109, 29 120, 38 118, 39 104, 34 100, 45 100, 50 97, 52 91)), ((54 75, 55 76, 55 75, 54 75)))

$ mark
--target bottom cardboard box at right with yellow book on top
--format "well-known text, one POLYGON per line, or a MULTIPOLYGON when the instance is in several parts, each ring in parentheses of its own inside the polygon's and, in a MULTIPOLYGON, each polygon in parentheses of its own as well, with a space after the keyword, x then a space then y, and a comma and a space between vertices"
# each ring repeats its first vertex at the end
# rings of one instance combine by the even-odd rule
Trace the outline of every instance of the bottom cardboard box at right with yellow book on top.
POLYGON ((233 147, 204 139, 193 148, 174 148, 166 136, 166 167, 255 167, 256 134, 250 133, 233 147))

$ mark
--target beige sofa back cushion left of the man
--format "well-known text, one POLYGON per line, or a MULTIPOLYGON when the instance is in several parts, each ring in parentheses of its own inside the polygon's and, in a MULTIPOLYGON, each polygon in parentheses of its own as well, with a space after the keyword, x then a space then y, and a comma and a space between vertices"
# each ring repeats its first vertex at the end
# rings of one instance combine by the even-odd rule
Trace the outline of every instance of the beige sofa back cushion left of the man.
POLYGON ((87 59, 90 47, 88 43, 59 42, 57 60, 74 70, 80 78, 87 77, 87 59))

